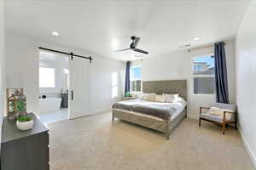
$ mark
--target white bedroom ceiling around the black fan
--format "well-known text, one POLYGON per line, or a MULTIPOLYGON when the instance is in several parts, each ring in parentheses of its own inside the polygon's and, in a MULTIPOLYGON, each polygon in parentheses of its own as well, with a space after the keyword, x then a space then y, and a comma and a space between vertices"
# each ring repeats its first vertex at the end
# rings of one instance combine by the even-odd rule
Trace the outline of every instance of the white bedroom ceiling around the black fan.
POLYGON ((24 34, 119 60, 137 59, 128 48, 158 56, 191 43, 235 37, 248 0, 5 0, 5 26, 24 34), (54 37, 51 31, 61 35, 54 37), (194 37, 201 37, 193 41, 194 37))

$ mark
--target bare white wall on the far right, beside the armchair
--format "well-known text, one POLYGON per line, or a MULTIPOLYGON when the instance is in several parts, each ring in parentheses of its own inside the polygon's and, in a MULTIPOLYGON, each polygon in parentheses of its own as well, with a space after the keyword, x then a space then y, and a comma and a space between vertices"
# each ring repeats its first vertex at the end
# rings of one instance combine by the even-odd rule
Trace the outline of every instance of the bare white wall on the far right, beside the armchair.
POLYGON ((236 36, 236 101, 239 127, 256 167, 256 3, 251 2, 236 36))

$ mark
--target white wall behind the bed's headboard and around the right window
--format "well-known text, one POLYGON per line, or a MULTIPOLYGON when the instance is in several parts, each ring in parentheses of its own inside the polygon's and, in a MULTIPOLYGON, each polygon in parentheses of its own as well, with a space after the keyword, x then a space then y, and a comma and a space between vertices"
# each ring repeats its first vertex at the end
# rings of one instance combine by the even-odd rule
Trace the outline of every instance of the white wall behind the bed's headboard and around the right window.
MULTIPOLYGON (((227 58, 228 79, 230 102, 236 102, 236 83, 235 83, 235 42, 231 41, 225 45, 227 58)), ((150 57, 143 59, 140 64, 142 68, 143 81, 150 80, 188 80, 188 115, 197 118, 199 107, 208 105, 215 100, 212 94, 193 94, 193 82, 191 75, 191 61, 195 56, 205 54, 214 54, 213 48, 201 48, 191 52, 181 50, 164 54, 162 56, 150 57)), ((137 61, 139 62, 139 61, 137 61)))

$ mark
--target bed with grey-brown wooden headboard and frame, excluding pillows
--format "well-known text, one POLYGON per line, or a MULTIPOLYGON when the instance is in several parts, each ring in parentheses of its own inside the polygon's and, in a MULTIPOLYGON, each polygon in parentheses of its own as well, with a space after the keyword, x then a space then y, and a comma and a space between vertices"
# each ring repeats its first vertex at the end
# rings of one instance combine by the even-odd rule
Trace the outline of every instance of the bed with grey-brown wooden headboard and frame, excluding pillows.
MULTIPOLYGON (((187 81, 149 81, 143 82, 143 93, 155 94, 179 94, 184 100, 187 99, 187 81)), ((113 105, 112 119, 119 118, 125 122, 135 123, 137 125, 148 127, 166 133, 166 139, 170 139, 170 133, 187 116, 186 102, 179 103, 158 103, 148 102, 141 99, 132 99, 117 102, 113 105), (150 105, 145 107, 144 105, 150 105), (132 109, 131 109, 132 108, 132 109), (175 108, 175 110, 172 110, 175 108), (148 111, 148 113, 146 113, 148 111), (166 111, 172 111, 170 116, 166 111), (162 114, 159 114, 162 113, 162 114), (161 115, 161 116, 159 116, 161 115)))

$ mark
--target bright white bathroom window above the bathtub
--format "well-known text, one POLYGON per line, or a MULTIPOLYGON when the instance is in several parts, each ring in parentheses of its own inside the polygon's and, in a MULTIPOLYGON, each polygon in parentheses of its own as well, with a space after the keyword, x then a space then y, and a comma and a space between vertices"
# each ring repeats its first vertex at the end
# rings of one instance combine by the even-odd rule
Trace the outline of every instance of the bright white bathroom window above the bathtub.
POLYGON ((55 88, 55 69, 39 67, 39 88, 55 88))

